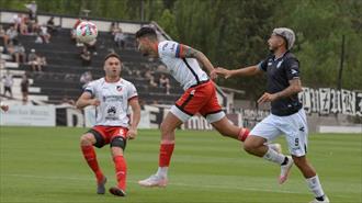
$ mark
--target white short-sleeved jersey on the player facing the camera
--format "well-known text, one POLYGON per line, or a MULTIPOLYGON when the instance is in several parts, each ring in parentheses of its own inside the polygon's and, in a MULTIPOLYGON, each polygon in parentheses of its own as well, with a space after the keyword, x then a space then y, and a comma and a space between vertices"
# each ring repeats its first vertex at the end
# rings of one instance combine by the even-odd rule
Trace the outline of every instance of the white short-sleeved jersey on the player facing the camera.
POLYGON ((84 91, 101 102, 95 109, 95 125, 128 127, 128 101, 138 95, 132 82, 106 82, 101 78, 89 82, 84 91))

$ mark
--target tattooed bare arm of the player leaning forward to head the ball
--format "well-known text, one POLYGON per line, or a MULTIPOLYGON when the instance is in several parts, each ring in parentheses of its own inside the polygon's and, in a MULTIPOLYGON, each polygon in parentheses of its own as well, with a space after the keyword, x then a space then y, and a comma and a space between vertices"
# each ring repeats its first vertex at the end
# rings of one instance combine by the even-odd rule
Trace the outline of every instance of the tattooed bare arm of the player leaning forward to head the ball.
POLYGON ((200 50, 196 50, 190 46, 180 44, 180 58, 196 58, 199 63, 207 69, 210 78, 215 79, 217 75, 214 72, 215 68, 210 59, 200 50))

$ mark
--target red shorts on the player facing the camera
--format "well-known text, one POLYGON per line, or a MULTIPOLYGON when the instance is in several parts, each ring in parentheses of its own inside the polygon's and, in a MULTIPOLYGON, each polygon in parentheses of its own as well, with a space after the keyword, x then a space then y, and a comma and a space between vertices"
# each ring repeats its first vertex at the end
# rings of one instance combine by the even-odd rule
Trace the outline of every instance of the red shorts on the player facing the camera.
POLYGON ((122 126, 103 126, 95 125, 92 127, 89 133, 92 133, 97 139, 94 146, 102 147, 106 144, 110 144, 114 137, 123 137, 126 139, 128 128, 122 126))

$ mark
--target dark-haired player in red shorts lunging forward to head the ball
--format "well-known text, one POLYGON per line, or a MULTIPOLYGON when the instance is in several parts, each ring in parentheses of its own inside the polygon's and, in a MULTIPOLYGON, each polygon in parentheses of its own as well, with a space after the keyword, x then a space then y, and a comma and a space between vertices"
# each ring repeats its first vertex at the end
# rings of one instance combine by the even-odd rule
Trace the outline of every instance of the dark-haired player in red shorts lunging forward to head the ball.
MULTIPOLYGON (((166 187, 168 168, 174 148, 174 129, 191 116, 200 113, 223 136, 241 142, 248 136, 249 129, 233 125, 222 111, 216 98, 215 84, 211 80, 217 75, 214 71, 214 66, 203 53, 177 42, 159 42, 156 31, 151 27, 142 27, 136 33, 136 41, 138 50, 144 56, 160 58, 185 91, 161 123, 157 172, 138 181, 143 187, 166 187), (202 70, 199 63, 208 70, 211 79, 202 70)), ((279 144, 273 144, 273 147, 280 150, 279 144)))

